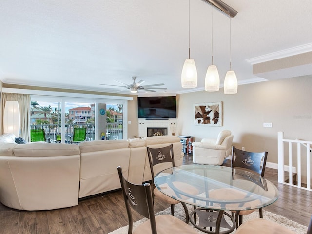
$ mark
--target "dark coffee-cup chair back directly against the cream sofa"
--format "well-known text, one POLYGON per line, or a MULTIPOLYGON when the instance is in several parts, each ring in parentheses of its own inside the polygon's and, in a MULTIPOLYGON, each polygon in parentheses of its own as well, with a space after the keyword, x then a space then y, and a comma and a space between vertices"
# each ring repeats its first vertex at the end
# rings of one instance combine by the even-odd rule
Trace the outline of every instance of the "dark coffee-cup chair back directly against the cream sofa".
POLYGON ((155 177, 156 165, 162 164, 162 163, 167 163, 168 166, 166 168, 162 168, 162 169, 167 169, 167 168, 175 166, 173 144, 170 144, 168 146, 161 147, 161 148, 146 147, 146 149, 147 149, 148 159, 150 162, 152 179, 154 179, 154 177, 155 177))

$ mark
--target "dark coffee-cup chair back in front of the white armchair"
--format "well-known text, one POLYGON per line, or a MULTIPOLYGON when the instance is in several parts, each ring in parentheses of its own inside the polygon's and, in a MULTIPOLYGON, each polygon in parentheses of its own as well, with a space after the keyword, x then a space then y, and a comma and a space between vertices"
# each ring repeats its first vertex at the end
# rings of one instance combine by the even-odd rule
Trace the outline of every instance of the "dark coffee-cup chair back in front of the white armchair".
POLYGON ((268 152, 248 152, 232 147, 231 167, 240 167, 252 170, 264 176, 268 152))

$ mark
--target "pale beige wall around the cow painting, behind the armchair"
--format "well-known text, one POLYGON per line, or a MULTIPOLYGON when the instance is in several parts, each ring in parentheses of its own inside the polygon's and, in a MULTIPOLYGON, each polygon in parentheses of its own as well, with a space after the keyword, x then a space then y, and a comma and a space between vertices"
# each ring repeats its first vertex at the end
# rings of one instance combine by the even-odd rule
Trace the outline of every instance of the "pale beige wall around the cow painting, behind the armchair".
POLYGON ((193 92, 177 96, 176 135, 191 135, 195 141, 215 138, 223 129, 234 135, 233 145, 247 151, 268 151, 268 161, 277 163, 277 132, 286 138, 312 140, 312 77, 287 78, 238 86, 238 93, 193 92), (223 126, 195 126, 195 103, 223 102, 223 126), (272 128, 264 128, 272 122, 272 128))

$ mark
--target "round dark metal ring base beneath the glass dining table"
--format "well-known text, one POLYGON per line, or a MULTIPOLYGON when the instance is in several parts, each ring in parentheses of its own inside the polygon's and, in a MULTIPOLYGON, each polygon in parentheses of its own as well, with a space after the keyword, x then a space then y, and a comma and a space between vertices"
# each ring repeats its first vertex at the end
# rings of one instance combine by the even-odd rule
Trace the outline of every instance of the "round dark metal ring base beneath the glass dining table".
POLYGON ((213 211, 206 208, 197 208, 190 214, 191 223, 200 231, 209 233, 209 234, 228 234, 232 233, 235 229, 236 223, 234 217, 221 211, 213 211), (199 223, 196 224, 196 220, 193 219, 194 215, 198 215, 199 223), (227 215, 232 222, 232 226, 225 220, 224 215, 227 215), (215 227, 215 231, 212 231, 212 227, 215 227), (220 227, 226 228, 228 230, 221 231, 220 227), (205 228, 209 228, 205 229, 205 228))

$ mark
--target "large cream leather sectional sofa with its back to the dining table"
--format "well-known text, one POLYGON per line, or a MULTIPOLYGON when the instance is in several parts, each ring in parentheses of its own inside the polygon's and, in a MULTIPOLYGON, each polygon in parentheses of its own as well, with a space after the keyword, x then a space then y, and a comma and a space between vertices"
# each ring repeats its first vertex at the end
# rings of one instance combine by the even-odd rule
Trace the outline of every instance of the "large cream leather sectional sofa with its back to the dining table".
POLYGON ((15 144, 0 136, 0 202, 19 210, 50 210, 78 205, 79 198, 120 188, 117 166, 128 180, 151 179, 146 146, 174 145, 176 166, 184 154, 176 136, 98 140, 75 144, 15 144))

